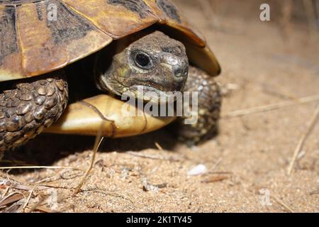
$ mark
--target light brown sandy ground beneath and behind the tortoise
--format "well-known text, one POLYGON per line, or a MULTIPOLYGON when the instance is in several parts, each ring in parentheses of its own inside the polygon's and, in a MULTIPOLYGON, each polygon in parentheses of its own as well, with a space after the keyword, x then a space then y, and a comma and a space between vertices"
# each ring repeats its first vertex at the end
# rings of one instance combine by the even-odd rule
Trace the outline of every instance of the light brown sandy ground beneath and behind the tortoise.
MULTIPOLYGON (((319 94, 318 40, 311 41, 301 25, 287 34, 277 23, 259 21, 258 14, 250 19, 219 16, 218 28, 211 29, 198 6, 182 3, 177 1, 204 31, 223 67, 218 82, 228 90, 219 135, 194 148, 176 143, 167 129, 105 139, 79 194, 74 190, 82 179, 80 170, 12 170, 10 182, 5 172, 0 173, 0 198, 11 192, 28 196, 34 189, 25 211, 319 211, 319 123, 293 173, 286 174, 318 105, 296 101, 319 94), (232 111, 293 100, 296 104, 286 108, 225 117, 232 111), (207 167, 206 174, 187 175, 200 164, 207 167)), ((86 170, 93 145, 94 138, 41 135, 4 159, 86 170)), ((21 211, 26 200, 15 196, 18 202, 2 204, 0 211, 21 211)))

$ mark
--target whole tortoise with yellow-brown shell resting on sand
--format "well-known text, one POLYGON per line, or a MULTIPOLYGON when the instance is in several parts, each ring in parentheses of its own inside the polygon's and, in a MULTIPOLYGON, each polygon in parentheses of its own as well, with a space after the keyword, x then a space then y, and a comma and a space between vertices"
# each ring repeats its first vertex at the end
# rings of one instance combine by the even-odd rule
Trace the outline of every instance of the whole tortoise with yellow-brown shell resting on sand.
POLYGON ((198 92, 197 123, 174 136, 216 131, 220 65, 171 1, 0 0, 0 18, 0 153, 43 131, 118 138, 177 118, 123 115, 124 92, 150 101, 138 88, 198 92))

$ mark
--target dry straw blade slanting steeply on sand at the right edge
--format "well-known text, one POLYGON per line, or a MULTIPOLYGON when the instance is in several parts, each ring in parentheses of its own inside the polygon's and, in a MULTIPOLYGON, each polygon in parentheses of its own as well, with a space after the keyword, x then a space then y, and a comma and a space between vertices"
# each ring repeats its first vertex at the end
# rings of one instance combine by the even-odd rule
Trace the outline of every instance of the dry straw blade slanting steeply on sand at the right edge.
POLYGON ((317 106, 317 109, 315 109, 315 114, 313 114, 313 117, 311 118, 306 133, 303 134, 301 139, 298 142, 298 145, 293 153, 293 157, 291 158, 291 162, 288 167, 288 175, 291 175, 291 172, 293 171, 293 165, 296 162, 296 159, 298 157, 298 153, 303 148, 303 144, 305 143, 306 139, 310 135, 311 131, 313 131, 313 128, 315 127, 315 123, 318 121, 319 118, 319 105, 317 106))

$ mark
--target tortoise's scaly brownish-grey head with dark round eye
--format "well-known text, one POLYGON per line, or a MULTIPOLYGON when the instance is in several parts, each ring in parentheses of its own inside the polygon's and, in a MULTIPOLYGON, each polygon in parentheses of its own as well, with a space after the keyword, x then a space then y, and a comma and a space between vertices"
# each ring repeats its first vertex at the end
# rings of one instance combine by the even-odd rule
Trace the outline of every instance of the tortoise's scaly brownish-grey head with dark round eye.
MULTIPOLYGON (((101 57, 97 61, 99 65, 107 64, 107 59, 101 57)), ((154 101, 159 95, 166 99, 182 91, 188 72, 184 45, 155 31, 113 55, 111 65, 96 74, 96 85, 104 92, 154 101)))

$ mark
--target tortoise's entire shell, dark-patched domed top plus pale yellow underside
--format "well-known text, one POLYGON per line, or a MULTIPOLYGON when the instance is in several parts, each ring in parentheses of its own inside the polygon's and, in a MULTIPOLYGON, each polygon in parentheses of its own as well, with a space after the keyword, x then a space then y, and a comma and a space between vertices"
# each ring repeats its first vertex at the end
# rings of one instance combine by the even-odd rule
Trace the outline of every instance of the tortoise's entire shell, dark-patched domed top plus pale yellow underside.
MULTIPOLYGON (((201 33, 168 0, 0 0, 0 82, 34 77, 80 60, 155 26, 186 46, 191 64, 220 73, 201 33)), ((162 128, 174 117, 121 114, 123 101, 106 94, 69 104, 46 132, 125 137, 162 128)))

